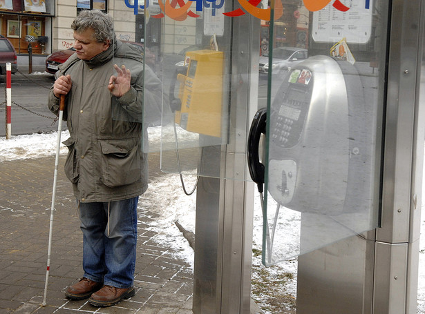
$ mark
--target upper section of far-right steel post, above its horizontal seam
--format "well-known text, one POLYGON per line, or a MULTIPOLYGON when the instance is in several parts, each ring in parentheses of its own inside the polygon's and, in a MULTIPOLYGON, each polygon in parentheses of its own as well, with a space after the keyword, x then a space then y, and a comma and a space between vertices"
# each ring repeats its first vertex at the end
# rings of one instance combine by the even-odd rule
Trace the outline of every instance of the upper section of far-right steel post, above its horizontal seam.
POLYGON ((388 64, 382 242, 408 242, 421 1, 393 1, 388 64))

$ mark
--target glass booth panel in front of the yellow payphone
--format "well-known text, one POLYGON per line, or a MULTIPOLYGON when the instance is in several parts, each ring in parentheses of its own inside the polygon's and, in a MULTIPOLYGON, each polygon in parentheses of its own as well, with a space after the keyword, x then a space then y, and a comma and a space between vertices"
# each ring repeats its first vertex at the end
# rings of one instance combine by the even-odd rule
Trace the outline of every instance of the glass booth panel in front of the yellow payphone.
POLYGON ((223 12, 231 6, 232 1, 114 3, 117 39, 144 50, 143 112, 129 116, 115 106, 114 119, 143 121, 145 151, 161 152, 164 172, 219 175, 199 165, 204 147, 228 141, 231 18, 223 12))

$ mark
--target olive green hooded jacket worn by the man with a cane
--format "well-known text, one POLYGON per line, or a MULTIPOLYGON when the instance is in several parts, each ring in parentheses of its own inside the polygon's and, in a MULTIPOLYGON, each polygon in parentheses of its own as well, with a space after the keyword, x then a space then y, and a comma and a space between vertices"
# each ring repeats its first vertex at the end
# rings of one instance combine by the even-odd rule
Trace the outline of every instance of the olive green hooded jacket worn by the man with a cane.
MULTIPOLYGON (((140 52, 121 41, 89 61, 74 54, 59 67, 56 78, 70 75, 72 81, 64 110, 70 134, 64 141, 64 168, 79 201, 117 201, 147 190, 147 125, 142 121, 149 119, 148 111, 158 115, 161 83, 149 68, 146 72, 144 82, 140 52), (107 88, 114 63, 131 71, 131 90, 119 98, 107 88), (143 109, 144 102, 148 105, 143 109)), ((48 107, 59 111, 53 88, 48 107)))

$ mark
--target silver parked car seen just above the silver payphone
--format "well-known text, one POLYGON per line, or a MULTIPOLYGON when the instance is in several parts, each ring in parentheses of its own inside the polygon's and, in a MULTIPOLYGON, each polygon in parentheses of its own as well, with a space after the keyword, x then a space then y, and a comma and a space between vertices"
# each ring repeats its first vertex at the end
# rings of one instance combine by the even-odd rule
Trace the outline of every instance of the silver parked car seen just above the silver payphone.
MULTIPOLYGON (((273 48, 272 70, 291 70, 291 68, 307 59, 307 50, 295 47, 273 48)), ((269 72, 269 56, 260 57, 259 71, 269 72)))

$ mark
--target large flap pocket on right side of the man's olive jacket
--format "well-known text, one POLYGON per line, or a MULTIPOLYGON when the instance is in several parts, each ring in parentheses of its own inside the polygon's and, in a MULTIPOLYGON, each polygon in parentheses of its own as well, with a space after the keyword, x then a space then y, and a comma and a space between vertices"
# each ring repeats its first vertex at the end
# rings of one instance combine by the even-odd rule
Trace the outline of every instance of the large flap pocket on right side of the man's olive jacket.
POLYGON ((113 188, 140 180, 141 161, 138 139, 100 141, 102 181, 113 188))

